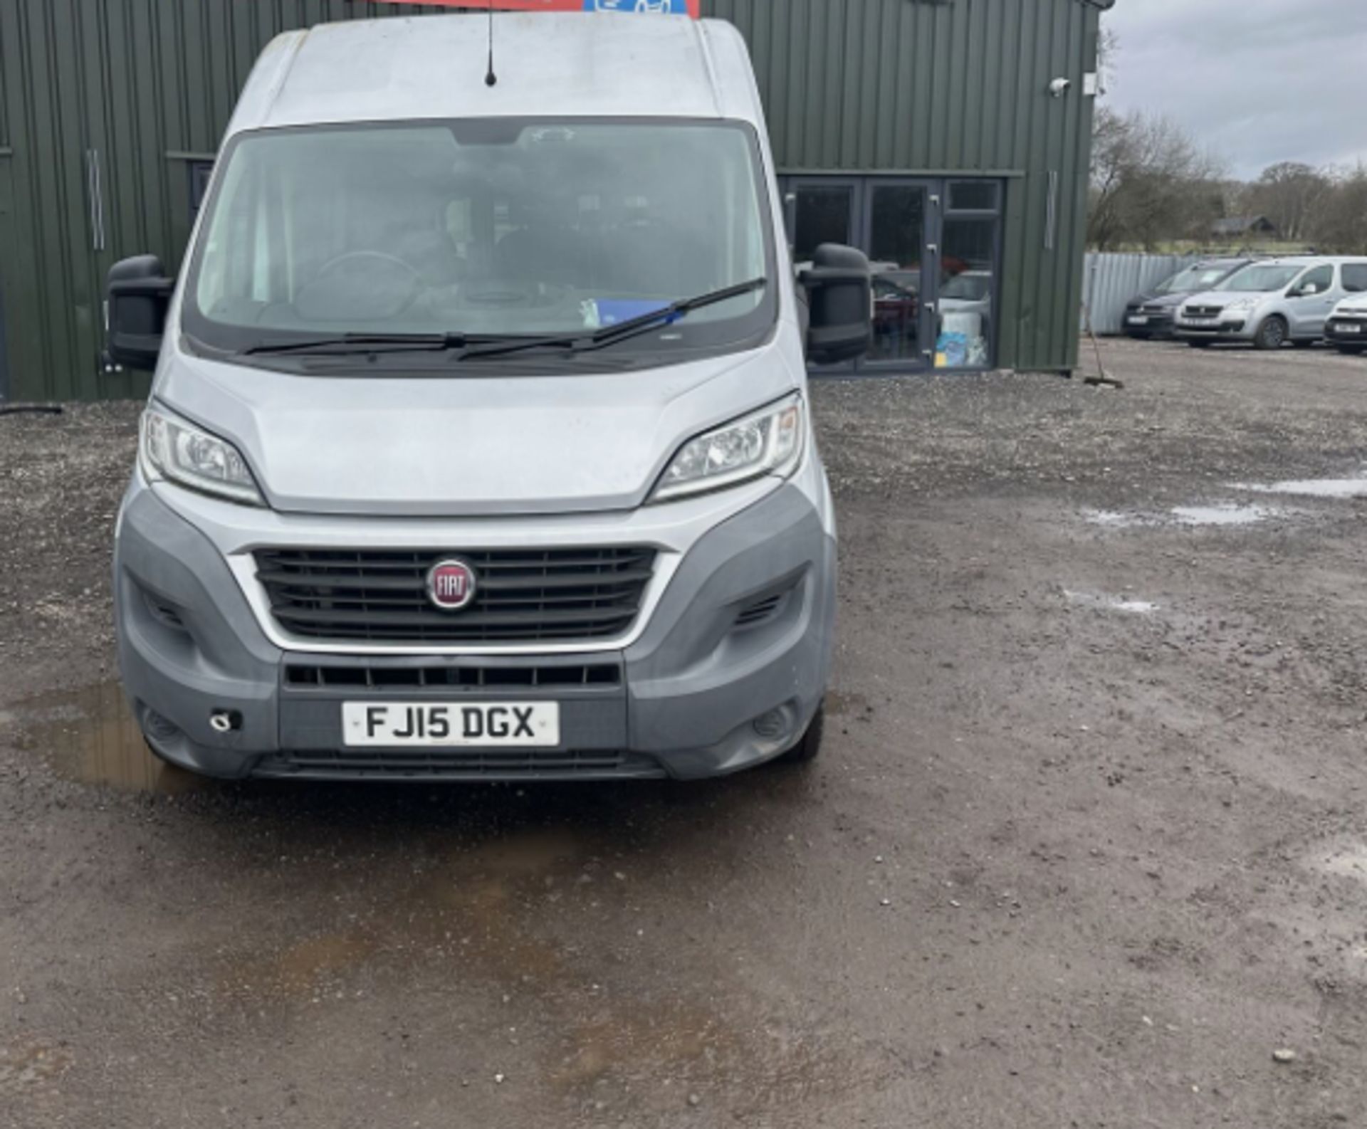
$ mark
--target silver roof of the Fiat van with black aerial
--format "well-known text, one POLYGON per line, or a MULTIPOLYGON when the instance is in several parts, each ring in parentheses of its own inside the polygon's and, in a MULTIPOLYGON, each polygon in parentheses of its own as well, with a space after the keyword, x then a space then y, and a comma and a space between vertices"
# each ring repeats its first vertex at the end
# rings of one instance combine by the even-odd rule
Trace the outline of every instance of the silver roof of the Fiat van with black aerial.
POLYGON ((763 130, 745 41, 723 21, 500 12, 325 23, 257 60, 243 130, 420 118, 730 118, 763 130))

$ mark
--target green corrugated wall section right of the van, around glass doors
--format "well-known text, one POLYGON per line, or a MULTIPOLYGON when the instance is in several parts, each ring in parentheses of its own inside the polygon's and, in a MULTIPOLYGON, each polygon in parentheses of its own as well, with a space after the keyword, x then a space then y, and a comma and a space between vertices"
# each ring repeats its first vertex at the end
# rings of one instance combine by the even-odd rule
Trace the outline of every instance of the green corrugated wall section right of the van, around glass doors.
POLYGON ((779 171, 1007 175, 999 362, 1073 368, 1094 4, 703 0, 703 15, 750 45, 779 171))

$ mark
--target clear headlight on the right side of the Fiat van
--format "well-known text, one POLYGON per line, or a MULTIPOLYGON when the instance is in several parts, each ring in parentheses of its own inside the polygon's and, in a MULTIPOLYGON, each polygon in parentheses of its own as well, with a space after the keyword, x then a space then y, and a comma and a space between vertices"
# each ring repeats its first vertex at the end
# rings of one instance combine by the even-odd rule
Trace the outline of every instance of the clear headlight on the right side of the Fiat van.
POLYGON ((802 398, 791 395, 690 439, 660 477, 651 500, 670 502, 766 474, 791 474, 802 461, 805 443, 807 410, 802 398))

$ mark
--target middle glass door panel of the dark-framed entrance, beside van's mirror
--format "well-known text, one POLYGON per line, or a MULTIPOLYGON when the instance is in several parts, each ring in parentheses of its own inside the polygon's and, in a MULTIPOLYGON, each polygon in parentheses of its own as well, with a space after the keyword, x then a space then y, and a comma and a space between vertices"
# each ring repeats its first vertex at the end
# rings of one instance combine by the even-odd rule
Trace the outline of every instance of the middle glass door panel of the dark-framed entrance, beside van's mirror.
POLYGON ((934 187, 891 179, 864 185, 861 245, 874 268, 874 346, 861 369, 905 372, 935 358, 934 187))

